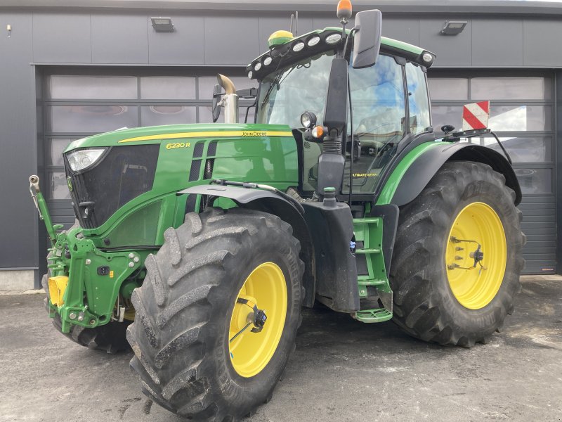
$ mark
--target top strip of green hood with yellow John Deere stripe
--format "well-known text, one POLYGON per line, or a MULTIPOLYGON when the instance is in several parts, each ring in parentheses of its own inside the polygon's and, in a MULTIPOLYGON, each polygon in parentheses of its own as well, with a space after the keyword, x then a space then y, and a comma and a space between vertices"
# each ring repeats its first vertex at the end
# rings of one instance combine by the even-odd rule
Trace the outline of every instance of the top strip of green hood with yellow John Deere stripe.
MULTIPOLYGON (((264 136, 292 136, 291 129, 281 124, 170 124, 166 126, 117 129, 73 141, 65 153, 79 148, 120 146, 124 144, 159 143, 170 139, 221 139, 264 136)), ((189 142, 189 141, 188 141, 189 142)))

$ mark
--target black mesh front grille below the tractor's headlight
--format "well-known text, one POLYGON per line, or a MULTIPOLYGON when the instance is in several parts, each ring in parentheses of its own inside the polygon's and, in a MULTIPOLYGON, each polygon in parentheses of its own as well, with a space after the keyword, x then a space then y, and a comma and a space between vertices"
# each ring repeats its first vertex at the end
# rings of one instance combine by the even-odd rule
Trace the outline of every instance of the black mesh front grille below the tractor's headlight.
POLYGON ((99 162, 72 172, 65 155, 74 214, 85 229, 95 229, 130 200, 152 189, 159 145, 114 146, 99 162))

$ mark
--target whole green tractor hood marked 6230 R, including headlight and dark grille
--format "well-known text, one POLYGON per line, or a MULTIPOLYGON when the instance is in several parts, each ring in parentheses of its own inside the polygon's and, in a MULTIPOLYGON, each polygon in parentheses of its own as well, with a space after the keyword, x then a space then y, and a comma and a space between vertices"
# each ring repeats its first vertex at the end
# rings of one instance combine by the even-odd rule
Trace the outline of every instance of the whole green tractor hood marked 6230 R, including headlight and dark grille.
POLYGON ((104 248, 160 244, 159 227, 197 207, 176 193, 210 179, 299 183, 296 141, 280 124, 120 129, 74 141, 63 157, 74 213, 104 248))

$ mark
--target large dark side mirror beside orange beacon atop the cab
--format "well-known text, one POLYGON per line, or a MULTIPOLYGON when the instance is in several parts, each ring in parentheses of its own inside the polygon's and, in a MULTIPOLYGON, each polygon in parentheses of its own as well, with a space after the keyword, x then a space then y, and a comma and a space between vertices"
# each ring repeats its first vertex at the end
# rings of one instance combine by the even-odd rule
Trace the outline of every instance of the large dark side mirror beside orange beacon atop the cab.
POLYGON ((369 68, 377 62, 381 49, 382 13, 378 9, 355 15, 353 68, 369 68))

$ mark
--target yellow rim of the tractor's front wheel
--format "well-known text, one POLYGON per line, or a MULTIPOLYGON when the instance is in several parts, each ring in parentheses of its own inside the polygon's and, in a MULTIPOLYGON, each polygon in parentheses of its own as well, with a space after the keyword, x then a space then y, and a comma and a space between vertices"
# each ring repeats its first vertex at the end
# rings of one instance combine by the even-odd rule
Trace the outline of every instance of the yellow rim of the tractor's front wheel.
POLYGON ((277 350, 287 316, 287 283, 283 271, 273 262, 264 262, 251 271, 238 293, 233 314, 230 316, 230 361, 243 377, 255 376, 266 367, 277 350), (240 300, 247 303, 240 303, 240 300), (252 332, 249 315, 256 305, 266 312, 263 329, 252 332), (242 331, 242 332, 241 332, 242 331))

